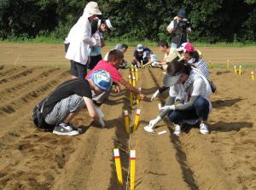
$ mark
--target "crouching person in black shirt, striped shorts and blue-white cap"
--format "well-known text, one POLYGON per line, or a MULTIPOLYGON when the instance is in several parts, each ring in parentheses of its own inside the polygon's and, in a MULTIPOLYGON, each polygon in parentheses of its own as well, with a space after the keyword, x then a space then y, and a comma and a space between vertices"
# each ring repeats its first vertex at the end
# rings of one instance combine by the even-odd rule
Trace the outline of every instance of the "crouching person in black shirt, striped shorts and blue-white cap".
POLYGON ((87 107, 91 118, 99 120, 91 90, 99 95, 108 91, 112 83, 110 74, 103 70, 92 72, 87 80, 75 78, 61 83, 44 104, 45 122, 55 125, 53 133, 56 135, 79 135, 70 121, 84 107, 87 107))

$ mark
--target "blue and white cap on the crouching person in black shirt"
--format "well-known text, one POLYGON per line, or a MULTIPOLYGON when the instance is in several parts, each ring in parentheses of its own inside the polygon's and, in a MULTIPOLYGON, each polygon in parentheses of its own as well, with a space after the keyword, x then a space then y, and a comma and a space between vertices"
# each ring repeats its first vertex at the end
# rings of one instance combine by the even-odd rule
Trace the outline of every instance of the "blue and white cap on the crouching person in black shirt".
POLYGON ((106 72, 104 70, 96 70, 92 72, 89 76, 89 79, 91 79, 98 88, 103 90, 109 90, 113 83, 109 72, 106 72))

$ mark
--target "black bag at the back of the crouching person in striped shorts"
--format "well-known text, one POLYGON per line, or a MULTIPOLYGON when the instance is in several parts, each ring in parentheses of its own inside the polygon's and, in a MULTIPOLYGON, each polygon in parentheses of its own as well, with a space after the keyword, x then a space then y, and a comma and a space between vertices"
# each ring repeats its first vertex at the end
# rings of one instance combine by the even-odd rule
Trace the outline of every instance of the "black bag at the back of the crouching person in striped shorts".
POLYGON ((47 100, 48 97, 44 98, 43 101, 39 102, 38 105, 34 107, 32 112, 32 120, 39 129, 53 130, 55 125, 47 124, 44 120, 44 104, 47 100))

